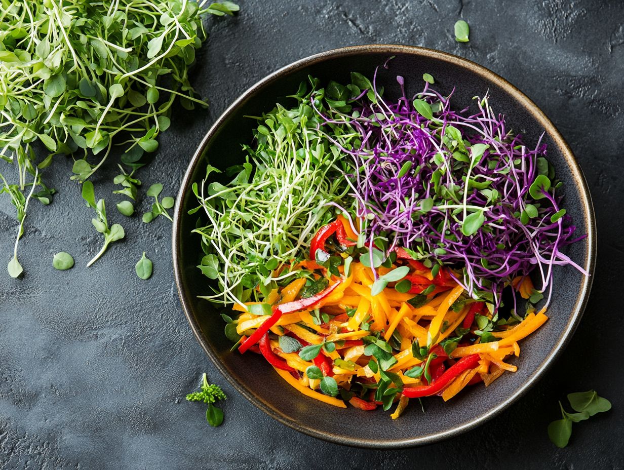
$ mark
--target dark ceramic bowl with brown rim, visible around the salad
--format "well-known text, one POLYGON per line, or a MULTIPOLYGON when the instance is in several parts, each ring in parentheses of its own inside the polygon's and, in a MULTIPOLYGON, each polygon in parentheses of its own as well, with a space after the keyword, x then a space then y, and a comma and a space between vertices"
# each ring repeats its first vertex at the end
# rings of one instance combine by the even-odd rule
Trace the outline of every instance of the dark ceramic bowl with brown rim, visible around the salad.
POLYGON ((188 210, 197 205, 191 191, 210 164, 224 169, 243 158, 241 144, 249 144, 255 121, 245 115, 261 115, 276 101, 293 94, 310 74, 328 81, 348 82, 349 72, 372 76, 375 67, 396 56, 389 70, 379 72, 378 83, 386 96, 396 96, 396 76, 405 77, 408 95, 422 86, 422 74, 436 78, 436 87, 448 92, 457 86, 456 106, 470 104, 474 95, 489 90, 490 104, 507 115, 510 126, 535 142, 545 131, 548 159, 557 176, 565 182, 565 207, 578 227, 587 233, 582 242, 568 251, 579 265, 593 272, 595 224, 592 202, 583 174, 563 137, 544 113, 522 92, 493 72, 461 57, 444 52, 407 46, 357 46, 323 52, 284 67, 248 89, 217 119, 193 155, 175 207, 173 225, 173 267, 182 306, 197 340, 218 370, 245 398, 265 413, 291 428, 316 438, 339 444, 369 448, 399 448, 433 443, 463 433, 484 423, 513 403, 544 375, 570 340, 585 308, 591 277, 583 277, 572 267, 558 267, 550 320, 522 341, 522 358, 517 373, 507 373, 485 389, 470 388, 444 403, 424 399, 425 413, 412 403, 400 419, 390 419, 381 409, 364 412, 350 407, 337 409, 303 396, 275 374, 261 356, 230 352, 232 343, 223 334, 223 320, 207 301, 197 298, 208 292, 207 278, 195 267, 200 258, 200 241, 191 235, 197 215, 188 210))

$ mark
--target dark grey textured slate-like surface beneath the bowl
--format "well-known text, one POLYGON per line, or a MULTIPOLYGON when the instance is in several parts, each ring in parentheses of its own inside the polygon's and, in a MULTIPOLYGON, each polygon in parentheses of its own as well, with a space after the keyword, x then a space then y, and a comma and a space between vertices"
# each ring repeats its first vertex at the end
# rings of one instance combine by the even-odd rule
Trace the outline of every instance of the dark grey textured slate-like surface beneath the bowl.
MULTIPOLYGON (((49 180, 50 207, 33 204, 21 242, 26 270, 0 277, 0 468, 623 468, 622 336, 624 196, 619 147, 624 64, 624 6, 597 1, 241 3, 236 19, 213 22, 195 67, 211 109, 178 111, 144 184, 177 186, 208 125, 268 72, 313 52, 349 44, 399 42, 441 49, 483 64, 522 89, 555 122, 592 189, 598 265, 588 310, 555 368, 525 398, 485 426, 445 443, 408 451, 364 451, 296 433, 238 396, 192 336, 170 270, 170 225, 123 219, 127 238, 89 270, 100 235, 59 160, 49 180), (471 25, 456 44, 452 25, 471 25), (620 182, 618 182, 620 180, 620 182), (96 236, 97 235, 97 236, 96 236), (77 265, 55 272, 52 253, 77 265), (134 273, 143 250, 155 263, 147 282, 134 273), (202 371, 222 383, 226 421, 208 428, 203 406, 183 395, 202 371), (604 416, 575 425, 558 450, 545 427, 557 399, 596 388, 610 398, 604 416), (304 464, 307 463, 307 464, 304 464)), ((112 207, 114 169, 96 180, 112 207)), ((142 203, 147 208, 147 202, 142 203)), ((8 259, 16 224, 0 200, 0 250, 8 259)), ((111 210, 114 214, 114 210, 111 210)), ((165 223, 166 222, 166 223, 165 223)))

